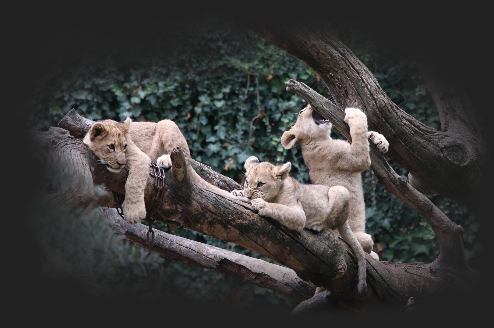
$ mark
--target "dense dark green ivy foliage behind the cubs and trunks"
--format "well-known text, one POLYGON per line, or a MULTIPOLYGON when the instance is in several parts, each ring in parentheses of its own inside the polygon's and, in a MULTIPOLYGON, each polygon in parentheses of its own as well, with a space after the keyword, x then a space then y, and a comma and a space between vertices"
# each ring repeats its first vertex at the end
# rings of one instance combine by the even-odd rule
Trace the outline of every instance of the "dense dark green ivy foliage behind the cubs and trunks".
MULTIPOLYGON (((310 183, 300 147, 285 150, 279 142, 305 105, 301 98, 285 91, 284 83, 296 79, 326 97, 330 96, 328 89, 314 72, 254 33, 232 23, 216 23, 167 31, 166 38, 153 40, 154 47, 146 48, 148 52, 135 49, 129 42, 124 52, 123 47, 102 47, 98 53, 82 48, 69 64, 53 60, 40 74, 32 124, 46 130, 56 126, 72 108, 93 120, 170 119, 187 139, 193 158, 238 182, 243 183, 244 162, 255 155, 277 164, 290 161, 292 176, 310 183)), ((424 124, 440 129, 437 109, 416 63, 378 53, 371 41, 356 34, 334 33, 371 69, 395 103, 424 124)), ((337 131, 332 136, 342 138, 337 131)), ((408 173, 398 164, 390 164, 398 174, 408 173)), ((362 177, 367 230, 381 260, 431 262, 437 258, 437 239, 425 220, 399 198, 385 194, 371 168, 362 177)), ((445 197, 427 197, 464 227, 467 258, 475 267, 480 247, 476 243, 476 217, 445 197)), ((165 225, 161 229, 168 231, 165 225)), ((259 257, 192 230, 179 228, 174 233, 259 257)), ((173 265, 183 271, 181 279, 187 281, 180 280, 177 286, 199 284, 203 290, 204 279, 211 280, 209 286, 224 281, 215 272, 206 274, 181 263, 173 265)), ((196 287, 190 290, 197 292, 196 287)), ((208 295, 223 293, 214 288, 208 295)), ((256 291, 251 293, 271 295, 271 291, 256 291)), ((276 296, 270 297, 272 302, 279 302, 276 296)))

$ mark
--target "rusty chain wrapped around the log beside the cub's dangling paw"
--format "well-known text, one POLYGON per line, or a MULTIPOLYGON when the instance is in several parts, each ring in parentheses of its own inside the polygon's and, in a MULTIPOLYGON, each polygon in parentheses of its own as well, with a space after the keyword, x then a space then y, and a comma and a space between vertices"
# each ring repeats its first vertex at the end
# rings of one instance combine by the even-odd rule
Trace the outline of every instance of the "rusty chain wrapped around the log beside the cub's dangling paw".
MULTIPOLYGON (((161 203, 161 199, 163 197, 163 187, 165 187, 165 170, 162 167, 160 167, 156 162, 151 162, 151 165, 149 166, 153 168, 154 176, 155 176, 155 189, 153 192, 153 198, 151 198, 151 201, 148 203, 148 206, 146 208, 146 218, 144 219, 148 222, 149 225, 146 242, 148 244, 149 254, 150 254, 151 247, 153 246, 153 242, 154 242, 153 223, 155 222, 155 220, 151 216, 156 212, 156 207, 161 203), (148 208, 152 208, 153 209, 152 212, 149 212, 148 208), (151 233, 151 243, 149 242, 150 233, 151 233)), ((122 211, 121 208, 122 203, 124 202, 124 195, 120 194, 119 192, 116 192, 115 190, 112 190, 112 193, 113 193, 113 200, 115 202, 115 208, 117 209, 117 213, 119 213, 122 219, 125 220, 124 212, 122 211)))

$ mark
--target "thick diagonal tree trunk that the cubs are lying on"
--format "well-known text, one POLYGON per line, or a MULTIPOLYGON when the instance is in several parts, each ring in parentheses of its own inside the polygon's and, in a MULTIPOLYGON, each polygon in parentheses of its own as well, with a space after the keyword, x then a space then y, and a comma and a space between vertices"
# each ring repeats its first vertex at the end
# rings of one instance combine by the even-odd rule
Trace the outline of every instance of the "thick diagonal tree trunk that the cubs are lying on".
MULTIPOLYGON (((60 156, 80 157, 87 147, 79 140, 55 133, 56 147, 72 144, 71 151, 60 156)), ((70 147, 69 147, 70 148, 70 147)), ((68 149, 68 148, 67 148, 68 149)), ((336 297, 339 306, 364 309, 375 304, 405 306, 410 296, 416 304, 436 295, 455 292, 467 294, 476 285, 476 277, 458 272, 436 260, 431 264, 376 262, 367 257, 368 292, 357 295, 357 260, 333 230, 315 235, 308 230, 290 231, 269 218, 255 214, 246 203, 226 199, 191 184, 180 149, 170 154, 172 168, 167 170, 163 202, 156 218, 247 247, 293 269, 316 286, 324 286, 336 297)), ((126 172, 111 173, 103 165, 87 161, 96 184, 124 193, 126 172)), ((152 196, 154 177, 146 187, 145 201, 152 196)))

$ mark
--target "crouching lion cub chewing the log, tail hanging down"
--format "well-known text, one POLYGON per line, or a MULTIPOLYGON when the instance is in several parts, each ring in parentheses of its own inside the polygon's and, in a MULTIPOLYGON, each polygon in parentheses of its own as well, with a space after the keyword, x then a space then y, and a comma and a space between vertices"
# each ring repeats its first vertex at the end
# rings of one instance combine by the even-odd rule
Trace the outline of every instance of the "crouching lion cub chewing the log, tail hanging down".
POLYGON ((365 293, 366 256, 347 220, 350 193, 343 186, 303 185, 288 175, 291 163, 259 163, 255 156, 247 159, 244 190, 234 195, 251 198, 250 205, 259 215, 275 219, 290 230, 304 228, 321 231, 337 229, 358 259, 358 292, 365 293))

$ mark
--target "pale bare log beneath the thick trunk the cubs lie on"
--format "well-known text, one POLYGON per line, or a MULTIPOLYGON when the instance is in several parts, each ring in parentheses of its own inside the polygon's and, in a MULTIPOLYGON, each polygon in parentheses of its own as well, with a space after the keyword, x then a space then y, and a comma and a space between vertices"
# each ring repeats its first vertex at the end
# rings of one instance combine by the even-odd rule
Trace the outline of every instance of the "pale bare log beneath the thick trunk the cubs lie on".
MULTIPOLYGON (((149 251, 148 227, 126 223, 115 208, 102 207, 107 226, 115 233, 124 235, 133 245, 149 251)), ((287 267, 248 257, 222 248, 193 241, 156 230, 151 252, 163 258, 216 270, 239 277, 259 287, 275 291, 289 299, 301 302, 314 295, 316 287, 305 282, 287 267)))

